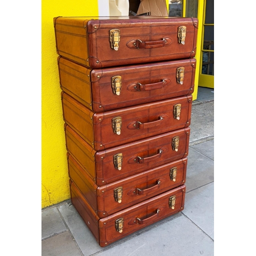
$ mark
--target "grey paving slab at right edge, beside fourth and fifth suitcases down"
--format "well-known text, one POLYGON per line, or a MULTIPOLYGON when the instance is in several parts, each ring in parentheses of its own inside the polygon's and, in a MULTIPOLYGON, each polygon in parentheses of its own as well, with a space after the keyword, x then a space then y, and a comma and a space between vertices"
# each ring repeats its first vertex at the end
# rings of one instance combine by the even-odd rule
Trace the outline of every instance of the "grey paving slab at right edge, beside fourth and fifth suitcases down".
POLYGON ((187 156, 186 192, 214 181, 214 160, 189 147, 187 156))

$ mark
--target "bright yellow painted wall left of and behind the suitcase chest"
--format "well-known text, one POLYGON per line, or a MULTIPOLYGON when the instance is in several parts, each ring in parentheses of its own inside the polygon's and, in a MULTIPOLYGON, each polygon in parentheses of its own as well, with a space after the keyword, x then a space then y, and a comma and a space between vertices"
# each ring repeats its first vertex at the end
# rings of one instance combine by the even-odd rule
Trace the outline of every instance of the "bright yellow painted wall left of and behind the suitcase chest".
POLYGON ((98 16, 97 0, 41 2, 41 207, 70 198, 53 17, 98 16))

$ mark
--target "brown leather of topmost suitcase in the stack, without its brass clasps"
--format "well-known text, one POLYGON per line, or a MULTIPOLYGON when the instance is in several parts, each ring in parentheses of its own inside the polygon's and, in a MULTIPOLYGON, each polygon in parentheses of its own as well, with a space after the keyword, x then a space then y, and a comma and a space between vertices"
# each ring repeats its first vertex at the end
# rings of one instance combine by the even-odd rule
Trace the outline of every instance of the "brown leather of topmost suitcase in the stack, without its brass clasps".
POLYGON ((197 18, 55 17, 54 29, 57 53, 93 69, 185 59, 196 55, 197 18), (184 45, 178 42, 179 26, 186 26, 184 45), (110 47, 111 29, 120 30, 117 51, 110 47), (167 38, 166 42, 164 38, 167 38))

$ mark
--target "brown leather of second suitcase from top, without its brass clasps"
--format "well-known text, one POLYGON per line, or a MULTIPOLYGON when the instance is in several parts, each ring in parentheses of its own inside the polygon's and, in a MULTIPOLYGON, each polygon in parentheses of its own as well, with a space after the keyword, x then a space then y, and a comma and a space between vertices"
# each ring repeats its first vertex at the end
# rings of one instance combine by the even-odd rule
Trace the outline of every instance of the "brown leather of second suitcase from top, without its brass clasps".
POLYGON ((58 57, 60 86, 93 112, 102 112, 194 92, 196 59, 180 59, 145 65, 90 69, 58 57), (183 84, 176 70, 184 67, 183 84), (121 76, 120 95, 112 91, 111 78, 121 76))

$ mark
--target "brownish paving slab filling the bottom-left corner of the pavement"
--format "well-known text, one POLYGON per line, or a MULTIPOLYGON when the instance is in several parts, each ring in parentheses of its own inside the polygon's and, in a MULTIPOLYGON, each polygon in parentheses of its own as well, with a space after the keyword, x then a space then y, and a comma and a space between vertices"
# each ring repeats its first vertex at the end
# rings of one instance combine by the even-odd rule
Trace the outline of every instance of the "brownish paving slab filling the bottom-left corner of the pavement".
POLYGON ((81 256, 69 231, 42 241, 42 256, 81 256))

